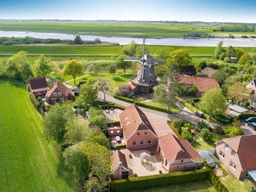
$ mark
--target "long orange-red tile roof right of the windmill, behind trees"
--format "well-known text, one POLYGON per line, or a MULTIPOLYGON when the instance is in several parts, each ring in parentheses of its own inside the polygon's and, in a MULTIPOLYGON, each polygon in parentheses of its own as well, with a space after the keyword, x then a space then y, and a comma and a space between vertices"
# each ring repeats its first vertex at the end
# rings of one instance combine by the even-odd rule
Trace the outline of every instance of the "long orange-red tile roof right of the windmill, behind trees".
POLYGON ((181 84, 190 84, 196 85, 197 90, 199 92, 205 92, 211 88, 218 88, 220 89, 219 83, 214 78, 209 77, 190 77, 190 76, 180 76, 180 83, 181 84))

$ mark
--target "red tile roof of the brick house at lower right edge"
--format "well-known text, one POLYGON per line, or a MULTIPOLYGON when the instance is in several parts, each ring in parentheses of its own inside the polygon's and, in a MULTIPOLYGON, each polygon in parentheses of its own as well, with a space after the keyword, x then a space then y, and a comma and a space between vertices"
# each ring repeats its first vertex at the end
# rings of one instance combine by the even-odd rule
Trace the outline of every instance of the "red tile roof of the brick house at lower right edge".
POLYGON ((219 142, 222 141, 237 153, 243 171, 256 169, 256 135, 231 137, 219 142))

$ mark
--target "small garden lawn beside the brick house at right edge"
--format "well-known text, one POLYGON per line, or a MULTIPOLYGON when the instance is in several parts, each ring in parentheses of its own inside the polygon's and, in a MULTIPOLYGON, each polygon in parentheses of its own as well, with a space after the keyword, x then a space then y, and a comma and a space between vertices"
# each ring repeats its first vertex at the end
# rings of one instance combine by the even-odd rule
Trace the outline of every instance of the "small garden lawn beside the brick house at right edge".
POLYGON ((222 139, 226 139, 227 137, 225 135, 217 135, 213 134, 212 140, 210 142, 205 142, 201 139, 199 136, 193 143, 192 146, 195 148, 196 151, 202 151, 202 150, 210 150, 211 148, 215 148, 216 144, 215 142, 220 141, 222 139))

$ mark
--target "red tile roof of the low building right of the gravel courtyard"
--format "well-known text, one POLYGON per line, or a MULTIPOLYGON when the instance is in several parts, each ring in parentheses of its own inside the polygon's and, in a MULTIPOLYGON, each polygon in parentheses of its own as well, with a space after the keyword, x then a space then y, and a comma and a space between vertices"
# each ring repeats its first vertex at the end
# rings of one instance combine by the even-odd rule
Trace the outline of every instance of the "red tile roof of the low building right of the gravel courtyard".
POLYGON ((192 159, 203 162, 203 159, 185 139, 179 139, 173 134, 160 137, 159 146, 168 162, 181 159, 192 159))

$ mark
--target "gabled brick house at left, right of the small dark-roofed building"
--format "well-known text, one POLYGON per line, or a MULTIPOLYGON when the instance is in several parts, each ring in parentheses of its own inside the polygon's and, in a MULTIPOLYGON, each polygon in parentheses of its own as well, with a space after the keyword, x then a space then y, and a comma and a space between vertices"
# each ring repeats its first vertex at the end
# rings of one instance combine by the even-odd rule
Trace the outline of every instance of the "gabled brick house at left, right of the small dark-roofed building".
POLYGON ((67 88, 62 82, 56 82, 46 94, 46 100, 49 104, 64 102, 68 99, 72 99, 72 90, 67 88))

